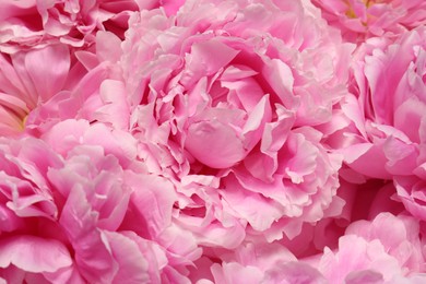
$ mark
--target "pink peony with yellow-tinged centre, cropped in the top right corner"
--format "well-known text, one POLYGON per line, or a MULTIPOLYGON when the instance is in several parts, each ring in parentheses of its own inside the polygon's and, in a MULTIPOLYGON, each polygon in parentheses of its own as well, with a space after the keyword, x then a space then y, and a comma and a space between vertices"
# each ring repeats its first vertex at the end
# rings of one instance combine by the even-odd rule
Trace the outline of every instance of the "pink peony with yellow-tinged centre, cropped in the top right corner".
POLYGON ((312 0, 345 39, 363 43, 374 36, 398 36, 426 22, 422 0, 312 0))

